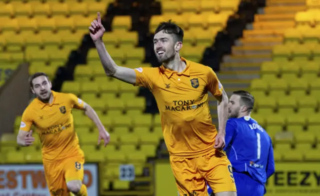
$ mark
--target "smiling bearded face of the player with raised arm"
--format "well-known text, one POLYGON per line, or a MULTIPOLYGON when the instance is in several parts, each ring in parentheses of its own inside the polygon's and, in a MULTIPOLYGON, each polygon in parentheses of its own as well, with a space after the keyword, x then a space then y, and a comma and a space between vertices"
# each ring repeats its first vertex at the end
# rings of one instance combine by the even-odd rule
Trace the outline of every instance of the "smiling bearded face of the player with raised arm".
POLYGON ((176 53, 174 35, 165 33, 164 30, 157 32, 153 38, 153 49, 160 63, 168 62, 176 53))

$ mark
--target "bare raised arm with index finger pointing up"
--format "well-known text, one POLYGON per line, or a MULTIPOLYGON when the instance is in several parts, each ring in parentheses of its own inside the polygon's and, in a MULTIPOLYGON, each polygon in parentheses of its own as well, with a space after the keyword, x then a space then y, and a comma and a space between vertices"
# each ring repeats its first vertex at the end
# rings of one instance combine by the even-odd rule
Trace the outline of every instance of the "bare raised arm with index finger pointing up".
POLYGON ((125 81, 127 83, 135 84, 136 74, 135 71, 131 68, 118 66, 112 60, 109 53, 106 51, 104 43, 102 41, 102 35, 105 31, 103 25, 101 24, 100 13, 97 12, 97 20, 91 22, 89 27, 90 36, 95 44, 96 50, 99 54, 100 61, 102 63, 105 74, 110 77, 114 77, 125 81))

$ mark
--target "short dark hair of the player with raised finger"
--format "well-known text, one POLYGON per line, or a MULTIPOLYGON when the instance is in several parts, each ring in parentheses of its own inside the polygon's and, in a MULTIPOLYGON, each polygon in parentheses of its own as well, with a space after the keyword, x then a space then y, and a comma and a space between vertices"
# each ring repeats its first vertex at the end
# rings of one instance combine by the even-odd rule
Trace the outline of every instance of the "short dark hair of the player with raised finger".
POLYGON ((158 27, 156 27, 154 34, 164 30, 167 34, 174 34, 177 41, 183 41, 183 30, 180 26, 172 22, 172 20, 160 22, 158 27))

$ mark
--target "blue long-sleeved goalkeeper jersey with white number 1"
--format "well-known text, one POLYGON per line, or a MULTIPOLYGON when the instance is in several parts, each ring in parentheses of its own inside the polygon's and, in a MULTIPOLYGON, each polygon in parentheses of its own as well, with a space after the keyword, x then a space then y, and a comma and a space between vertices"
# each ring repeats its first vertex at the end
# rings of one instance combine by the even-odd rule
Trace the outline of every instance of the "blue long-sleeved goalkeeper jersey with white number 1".
POLYGON ((271 138, 250 116, 227 120, 224 150, 234 172, 246 171, 263 185, 274 173, 271 138))

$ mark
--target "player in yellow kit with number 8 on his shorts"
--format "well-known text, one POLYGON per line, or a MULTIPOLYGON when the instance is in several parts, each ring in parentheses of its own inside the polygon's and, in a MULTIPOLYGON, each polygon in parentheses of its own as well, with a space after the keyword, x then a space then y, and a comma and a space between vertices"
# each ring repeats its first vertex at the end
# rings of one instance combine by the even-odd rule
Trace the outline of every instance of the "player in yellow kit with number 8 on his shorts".
POLYGON ((51 195, 87 196, 83 179, 84 154, 79 147, 73 127, 72 108, 81 109, 96 124, 98 143, 109 142, 109 133, 104 129, 95 111, 74 94, 51 90, 51 82, 43 72, 29 77, 31 91, 36 95, 25 108, 17 135, 17 143, 29 146, 34 141, 32 124, 36 127, 42 144, 42 160, 46 182, 51 195))

